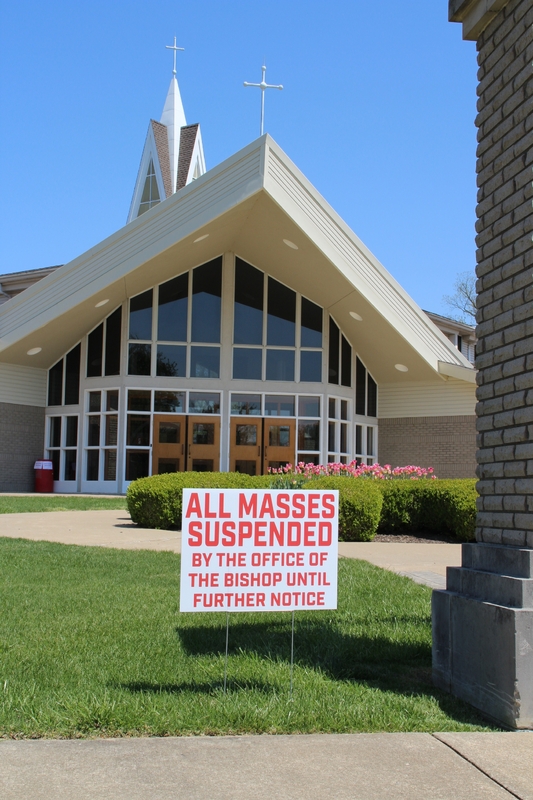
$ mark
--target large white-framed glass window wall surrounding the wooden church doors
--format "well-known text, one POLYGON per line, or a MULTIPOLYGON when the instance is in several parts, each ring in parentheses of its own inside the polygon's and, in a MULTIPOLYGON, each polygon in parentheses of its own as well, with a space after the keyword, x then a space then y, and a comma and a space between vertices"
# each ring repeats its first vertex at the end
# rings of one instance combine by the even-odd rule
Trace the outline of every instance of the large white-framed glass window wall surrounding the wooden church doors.
MULTIPOLYGON (((225 375, 236 380, 300 384, 287 386, 287 392, 279 394, 272 389, 254 393, 253 386, 246 387, 249 393, 228 392, 229 414, 262 417, 265 431, 269 417, 293 420, 291 443, 297 461, 347 462, 356 457, 373 463, 377 426, 375 419, 368 418, 377 417, 377 385, 359 357, 352 356, 352 347, 339 326, 319 305, 242 259, 236 258, 234 265, 228 262, 228 268, 234 269, 235 283, 233 297, 225 300, 225 313, 233 323, 233 339, 229 329, 225 339, 229 345, 225 375), (329 372, 323 368, 326 363, 329 372), (333 390, 330 386, 334 397, 311 385, 308 391, 316 394, 298 392, 299 388, 305 392, 306 383, 322 382, 336 385, 333 390)), ((82 482, 109 485, 149 475, 154 414, 220 414, 221 391, 210 390, 228 391, 232 385, 209 385, 209 380, 219 379, 221 374, 222 276, 220 257, 142 292, 129 301, 125 320, 122 309, 115 309, 87 335, 81 348, 71 349, 49 370, 48 400, 55 406, 50 412, 58 421, 49 423, 45 447, 58 480, 72 483, 72 476, 79 472, 82 482), (122 321, 128 351, 122 348, 126 358, 121 361, 122 321), (121 391, 126 392, 126 413, 119 420, 118 389, 108 388, 110 381, 99 385, 94 379, 119 374, 121 363, 123 374, 127 371, 152 380, 135 382, 138 389, 121 384, 121 391), (157 377, 178 380, 162 380, 154 389, 157 377), (190 378, 206 379, 206 391, 188 390, 190 378), (175 390, 176 385, 181 388, 175 390), (80 388, 85 389, 87 399, 80 406, 85 424, 80 426, 78 448, 71 444, 74 422, 68 423, 67 435, 67 423, 62 420, 74 418, 77 409, 71 408, 69 413, 68 405, 81 402, 80 388)), ((133 383, 131 378, 126 378, 128 383, 133 383)), ((263 388, 267 388, 264 383, 263 388)), ((284 424, 282 419, 280 425, 284 424)), ((221 430, 224 432, 224 425, 221 430)), ((225 436, 223 433, 223 442, 225 436)), ((220 456, 220 466, 227 469, 230 450, 220 456)), ((263 468, 261 464, 257 467, 259 471, 263 468)))

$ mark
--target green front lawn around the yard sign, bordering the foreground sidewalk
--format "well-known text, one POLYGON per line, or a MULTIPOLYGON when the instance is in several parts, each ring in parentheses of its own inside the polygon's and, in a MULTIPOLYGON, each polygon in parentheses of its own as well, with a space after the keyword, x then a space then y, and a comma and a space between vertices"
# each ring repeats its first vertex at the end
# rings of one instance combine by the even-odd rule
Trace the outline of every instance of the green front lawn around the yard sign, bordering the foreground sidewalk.
POLYGON ((339 609, 183 614, 173 553, 0 539, 0 736, 487 730, 431 684, 430 590, 341 559, 339 609))

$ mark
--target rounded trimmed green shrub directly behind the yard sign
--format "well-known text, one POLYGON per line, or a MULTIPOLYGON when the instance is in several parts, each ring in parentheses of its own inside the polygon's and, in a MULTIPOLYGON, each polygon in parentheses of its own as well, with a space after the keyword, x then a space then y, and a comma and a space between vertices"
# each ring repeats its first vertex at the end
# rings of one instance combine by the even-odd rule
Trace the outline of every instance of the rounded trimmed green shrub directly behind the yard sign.
MULTIPOLYGON (((144 528, 181 527, 183 489, 267 489, 272 477, 251 477, 239 472, 175 472, 140 478, 126 494, 130 516, 144 528)), ((298 487, 299 488, 299 487, 298 487)), ((376 483, 346 478, 314 478, 303 490, 339 490, 339 539, 368 542, 376 535, 383 497, 376 483)))

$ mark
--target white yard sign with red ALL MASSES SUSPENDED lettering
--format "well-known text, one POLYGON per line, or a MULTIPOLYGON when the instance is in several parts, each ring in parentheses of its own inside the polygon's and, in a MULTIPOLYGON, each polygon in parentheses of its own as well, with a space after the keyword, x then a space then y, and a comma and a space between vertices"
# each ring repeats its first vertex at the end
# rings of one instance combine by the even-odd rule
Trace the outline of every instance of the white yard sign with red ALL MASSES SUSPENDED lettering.
POLYGON ((338 492, 184 489, 181 611, 337 608, 338 492))

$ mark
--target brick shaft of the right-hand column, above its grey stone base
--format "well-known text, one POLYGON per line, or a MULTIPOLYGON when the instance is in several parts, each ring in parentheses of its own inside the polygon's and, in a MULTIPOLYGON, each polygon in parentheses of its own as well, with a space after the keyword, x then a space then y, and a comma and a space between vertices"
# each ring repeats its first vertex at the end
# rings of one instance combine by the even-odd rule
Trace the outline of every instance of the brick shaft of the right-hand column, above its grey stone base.
POLYGON ((477 539, 533 547, 533 3, 478 40, 477 539))

